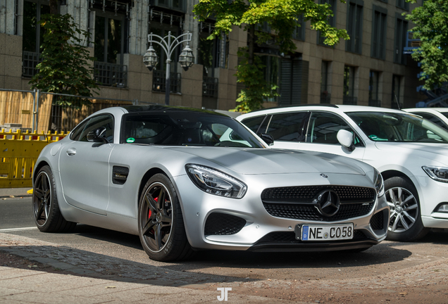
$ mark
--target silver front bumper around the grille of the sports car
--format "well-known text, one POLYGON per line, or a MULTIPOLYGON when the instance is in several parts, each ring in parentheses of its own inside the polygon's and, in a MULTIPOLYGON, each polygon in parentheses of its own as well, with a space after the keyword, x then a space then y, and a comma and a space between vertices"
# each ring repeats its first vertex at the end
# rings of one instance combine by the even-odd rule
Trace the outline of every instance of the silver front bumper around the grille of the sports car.
MULTIPOLYGON (((385 196, 376 198, 372 210, 367 215, 335 222, 295 220, 274 217, 263 207, 263 189, 282 186, 306 185, 346 185, 371 187, 367 177, 359 175, 327 174, 285 174, 285 175, 247 175, 242 180, 248 186, 244 198, 233 199, 206 194, 194 186, 187 175, 175 177, 187 238, 193 248, 250 250, 250 251, 335 251, 342 249, 368 248, 385 239, 390 210, 385 196), (244 220, 244 227, 237 233, 206 235, 206 222, 210 215, 225 214, 244 220), (372 227, 373 215, 382 213, 380 229, 378 223, 372 227), (347 224, 353 223, 356 236, 349 241, 301 241, 295 239, 294 227, 297 224, 347 224), (376 229, 374 229, 376 228, 376 229), (273 234, 283 234, 280 239, 273 234)), ((239 176, 240 178, 241 176, 239 176)), ((240 178, 241 179, 241 178, 240 178)), ((378 220, 378 217, 376 217, 378 220)), ((378 222, 378 221, 377 221, 378 222)))

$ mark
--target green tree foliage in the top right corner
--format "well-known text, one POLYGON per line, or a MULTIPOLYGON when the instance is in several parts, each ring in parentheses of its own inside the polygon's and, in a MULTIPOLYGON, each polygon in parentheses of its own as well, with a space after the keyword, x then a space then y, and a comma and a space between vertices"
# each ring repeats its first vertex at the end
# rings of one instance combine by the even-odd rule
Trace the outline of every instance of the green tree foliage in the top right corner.
POLYGON ((421 41, 412 58, 421 63, 423 87, 428 90, 440 87, 448 82, 448 1, 425 0, 406 19, 416 25, 411 29, 413 38, 421 41))

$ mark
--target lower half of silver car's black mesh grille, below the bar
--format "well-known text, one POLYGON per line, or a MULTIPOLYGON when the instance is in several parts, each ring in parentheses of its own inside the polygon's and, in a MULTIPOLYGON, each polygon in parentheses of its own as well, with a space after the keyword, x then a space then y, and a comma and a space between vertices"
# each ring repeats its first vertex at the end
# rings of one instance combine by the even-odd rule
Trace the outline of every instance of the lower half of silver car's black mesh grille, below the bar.
POLYGON ((275 217, 321 222, 333 222, 337 220, 347 220, 353 217, 360 217, 370 213, 373 208, 373 203, 341 205, 335 215, 332 217, 325 217, 318 212, 314 205, 311 204, 263 203, 263 205, 266 211, 275 217))

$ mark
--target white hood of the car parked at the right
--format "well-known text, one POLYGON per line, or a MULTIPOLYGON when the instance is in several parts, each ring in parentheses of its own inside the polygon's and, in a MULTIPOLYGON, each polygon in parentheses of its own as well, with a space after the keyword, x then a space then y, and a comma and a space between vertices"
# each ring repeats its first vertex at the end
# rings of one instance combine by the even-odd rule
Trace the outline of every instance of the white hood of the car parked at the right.
POLYGON ((375 146, 381 151, 400 153, 409 159, 426 158, 431 162, 448 165, 448 144, 376 142, 375 146))

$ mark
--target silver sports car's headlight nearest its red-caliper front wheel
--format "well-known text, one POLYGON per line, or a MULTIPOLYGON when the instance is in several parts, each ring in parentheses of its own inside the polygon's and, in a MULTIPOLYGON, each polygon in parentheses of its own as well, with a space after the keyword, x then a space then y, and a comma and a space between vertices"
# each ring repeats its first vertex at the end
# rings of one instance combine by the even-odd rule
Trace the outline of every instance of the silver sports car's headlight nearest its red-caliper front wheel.
POLYGON ((242 198, 246 194, 247 186, 243 182, 211 167, 187 164, 185 169, 192 182, 208 194, 228 198, 242 198))

